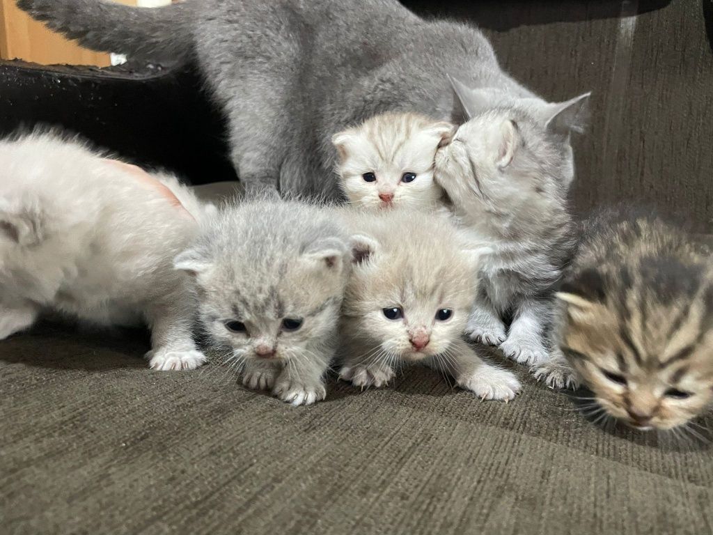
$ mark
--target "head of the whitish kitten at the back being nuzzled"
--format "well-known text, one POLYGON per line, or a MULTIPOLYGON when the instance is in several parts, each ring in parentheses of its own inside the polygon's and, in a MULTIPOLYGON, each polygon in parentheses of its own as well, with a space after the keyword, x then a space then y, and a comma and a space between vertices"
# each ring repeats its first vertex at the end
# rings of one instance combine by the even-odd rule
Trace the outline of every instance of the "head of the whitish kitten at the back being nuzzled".
POLYGON ((443 196, 434 154, 451 123, 416 113, 384 113, 332 138, 342 189, 362 208, 431 208, 443 196))

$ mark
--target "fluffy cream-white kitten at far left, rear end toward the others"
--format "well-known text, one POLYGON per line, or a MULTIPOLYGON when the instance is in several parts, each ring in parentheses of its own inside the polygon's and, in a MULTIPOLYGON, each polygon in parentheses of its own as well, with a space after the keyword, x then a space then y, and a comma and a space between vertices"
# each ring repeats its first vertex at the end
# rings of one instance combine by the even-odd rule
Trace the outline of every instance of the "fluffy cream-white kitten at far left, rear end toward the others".
POLYGON ((148 322, 156 370, 205 361, 189 281, 172 265, 210 215, 188 188, 51 133, 0 141, 0 168, 0 340, 55 311, 148 322))

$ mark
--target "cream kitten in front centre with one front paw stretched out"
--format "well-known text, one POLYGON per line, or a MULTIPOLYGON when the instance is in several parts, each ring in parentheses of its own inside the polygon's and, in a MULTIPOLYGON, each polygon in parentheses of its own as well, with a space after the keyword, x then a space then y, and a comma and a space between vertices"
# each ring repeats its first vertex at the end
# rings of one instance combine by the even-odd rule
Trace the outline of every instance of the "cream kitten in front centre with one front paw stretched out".
POLYGON ((381 387, 403 362, 444 372, 483 399, 513 399, 515 376, 461 339, 476 292, 478 250, 436 215, 353 213, 355 264, 342 307, 340 377, 381 387), (469 245, 468 245, 469 246, 469 245))

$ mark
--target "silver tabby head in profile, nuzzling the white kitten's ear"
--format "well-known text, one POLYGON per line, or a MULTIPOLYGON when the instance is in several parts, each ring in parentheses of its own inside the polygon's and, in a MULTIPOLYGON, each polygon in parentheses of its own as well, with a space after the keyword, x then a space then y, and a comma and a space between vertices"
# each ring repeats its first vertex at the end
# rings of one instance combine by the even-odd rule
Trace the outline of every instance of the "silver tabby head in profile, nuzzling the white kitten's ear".
POLYGON ((582 131, 589 94, 563 103, 461 87, 471 119, 436 153, 436 182, 474 218, 543 218, 565 205, 574 178, 570 133, 582 131))

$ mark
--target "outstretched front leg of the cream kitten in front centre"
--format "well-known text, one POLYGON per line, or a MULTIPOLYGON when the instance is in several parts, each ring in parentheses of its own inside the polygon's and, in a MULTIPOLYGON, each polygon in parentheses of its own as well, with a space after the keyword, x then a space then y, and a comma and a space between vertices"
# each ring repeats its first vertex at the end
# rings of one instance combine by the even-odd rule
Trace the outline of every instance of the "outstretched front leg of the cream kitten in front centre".
POLYGON ((481 399, 509 401, 520 392, 520 382, 515 374, 498 368, 481 359, 473 347, 463 340, 453 342, 440 363, 459 387, 474 392, 481 399))

